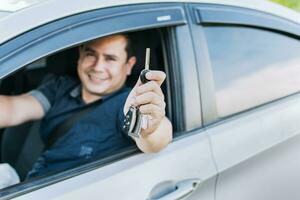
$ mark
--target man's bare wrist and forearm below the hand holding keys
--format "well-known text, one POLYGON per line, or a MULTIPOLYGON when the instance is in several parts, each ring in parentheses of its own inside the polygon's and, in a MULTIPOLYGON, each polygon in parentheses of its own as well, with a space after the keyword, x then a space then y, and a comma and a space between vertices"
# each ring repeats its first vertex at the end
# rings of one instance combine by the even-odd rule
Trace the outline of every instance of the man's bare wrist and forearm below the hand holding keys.
POLYGON ((156 153, 165 148, 173 138, 172 124, 164 118, 159 127, 151 134, 136 139, 138 148, 144 153, 156 153))

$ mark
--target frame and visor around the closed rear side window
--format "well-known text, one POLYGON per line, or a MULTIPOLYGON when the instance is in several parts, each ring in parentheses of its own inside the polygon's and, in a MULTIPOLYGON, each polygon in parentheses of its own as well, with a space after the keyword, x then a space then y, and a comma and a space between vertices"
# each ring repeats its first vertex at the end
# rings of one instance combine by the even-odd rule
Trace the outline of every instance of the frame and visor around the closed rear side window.
POLYGON ((264 29, 270 32, 286 35, 287 37, 299 38, 300 25, 289 21, 288 19, 264 13, 262 11, 225 5, 191 3, 189 5, 189 15, 193 20, 192 33, 193 38, 195 39, 196 54, 201 54, 201 56, 196 58, 198 63, 204 126, 214 125, 219 121, 247 113, 248 111, 252 111, 264 105, 268 105, 272 102, 277 102, 281 99, 294 95, 288 95, 274 101, 266 102, 262 105, 254 106, 247 110, 234 113, 224 118, 220 118, 217 113, 213 72, 209 57, 207 39, 204 34, 204 27, 242 26, 254 29, 264 29))

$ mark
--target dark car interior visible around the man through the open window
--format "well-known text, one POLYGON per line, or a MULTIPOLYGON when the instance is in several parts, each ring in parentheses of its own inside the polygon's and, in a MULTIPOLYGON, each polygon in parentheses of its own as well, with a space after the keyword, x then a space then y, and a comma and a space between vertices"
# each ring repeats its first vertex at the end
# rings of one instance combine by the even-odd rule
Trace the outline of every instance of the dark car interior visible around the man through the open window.
MULTIPOLYGON (((151 48, 150 69, 165 71, 165 59, 160 30, 151 29, 129 34, 135 44, 137 63, 126 85, 133 87, 144 67, 147 47, 151 48)), ((54 76, 77 76, 77 59, 78 46, 39 59, 1 80, 0 94, 26 93, 54 76)), ((162 85, 162 89, 168 102, 166 83, 162 85)), ((39 125, 40 121, 33 121, 0 130, 0 163, 9 163, 17 171, 21 181, 43 151, 44 144, 39 136, 39 125)))

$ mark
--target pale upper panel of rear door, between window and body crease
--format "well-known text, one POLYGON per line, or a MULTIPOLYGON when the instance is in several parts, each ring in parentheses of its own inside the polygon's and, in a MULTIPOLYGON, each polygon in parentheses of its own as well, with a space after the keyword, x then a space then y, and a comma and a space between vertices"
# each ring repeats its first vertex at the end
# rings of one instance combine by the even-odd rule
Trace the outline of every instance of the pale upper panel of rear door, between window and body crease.
POLYGON ((209 127, 219 171, 299 135, 299 99, 296 95, 209 127))

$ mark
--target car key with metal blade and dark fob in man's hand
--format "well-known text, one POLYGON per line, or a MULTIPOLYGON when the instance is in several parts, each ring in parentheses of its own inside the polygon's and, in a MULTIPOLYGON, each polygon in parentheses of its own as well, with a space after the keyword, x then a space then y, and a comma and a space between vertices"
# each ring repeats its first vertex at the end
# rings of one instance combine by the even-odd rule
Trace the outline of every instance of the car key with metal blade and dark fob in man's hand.
MULTIPOLYGON (((141 71, 140 79, 143 84, 149 80, 146 78, 146 73, 149 72, 150 63, 150 48, 146 49, 145 69, 141 71)), ((125 115, 123 131, 130 137, 140 138, 141 129, 143 126, 143 116, 138 106, 131 105, 125 115)))

